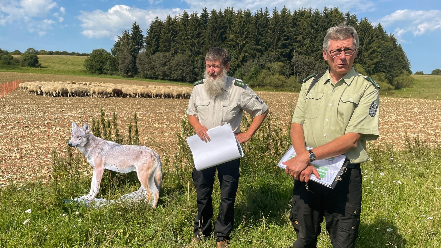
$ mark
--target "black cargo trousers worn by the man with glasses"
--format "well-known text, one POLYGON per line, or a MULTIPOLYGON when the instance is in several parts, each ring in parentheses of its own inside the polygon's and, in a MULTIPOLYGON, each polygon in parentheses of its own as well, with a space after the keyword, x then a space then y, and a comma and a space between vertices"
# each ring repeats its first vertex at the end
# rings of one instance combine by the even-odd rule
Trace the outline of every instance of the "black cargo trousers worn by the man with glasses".
POLYGON ((290 220, 297 234, 293 248, 317 247, 321 222, 325 217, 326 229, 333 247, 355 246, 361 212, 360 164, 349 164, 335 188, 314 181, 294 180, 290 220))

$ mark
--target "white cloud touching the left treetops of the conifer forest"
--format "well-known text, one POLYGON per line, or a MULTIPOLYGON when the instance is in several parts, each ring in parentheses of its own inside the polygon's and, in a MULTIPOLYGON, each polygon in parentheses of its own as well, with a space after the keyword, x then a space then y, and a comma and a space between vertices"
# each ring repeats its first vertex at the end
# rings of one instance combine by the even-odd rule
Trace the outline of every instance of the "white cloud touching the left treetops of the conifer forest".
POLYGON ((181 10, 156 10, 149 11, 140 8, 131 8, 126 5, 115 5, 107 12, 101 10, 80 11, 77 18, 82 22, 84 28, 82 34, 88 38, 113 38, 123 30, 131 30, 132 24, 136 21, 139 26, 149 26, 150 22, 158 16, 164 19, 167 15, 177 15, 181 10))

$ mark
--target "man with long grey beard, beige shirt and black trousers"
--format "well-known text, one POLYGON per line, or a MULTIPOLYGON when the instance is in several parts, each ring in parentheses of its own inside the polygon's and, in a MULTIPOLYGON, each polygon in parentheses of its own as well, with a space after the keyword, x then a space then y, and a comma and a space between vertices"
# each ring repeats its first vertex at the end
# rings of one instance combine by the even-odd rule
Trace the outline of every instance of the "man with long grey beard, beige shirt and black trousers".
MULTIPOLYGON (((199 138, 209 142, 208 129, 229 123, 239 143, 247 142, 265 120, 268 105, 247 84, 227 75, 230 68, 227 50, 211 48, 205 56, 205 61, 204 79, 194 83, 188 103, 187 114, 191 126, 199 138), (240 132, 243 110, 254 117, 246 132, 240 132)), ((198 215, 194 220, 192 243, 198 243, 213 233, 211 194, 217 170, 221 203, 214 225, 214 237, 218 248, 229 247, 229 236, 234 222, 234 202, 239 184, 239 165, 240 160, 235 159, 201 171, 193 169, 198 215)))

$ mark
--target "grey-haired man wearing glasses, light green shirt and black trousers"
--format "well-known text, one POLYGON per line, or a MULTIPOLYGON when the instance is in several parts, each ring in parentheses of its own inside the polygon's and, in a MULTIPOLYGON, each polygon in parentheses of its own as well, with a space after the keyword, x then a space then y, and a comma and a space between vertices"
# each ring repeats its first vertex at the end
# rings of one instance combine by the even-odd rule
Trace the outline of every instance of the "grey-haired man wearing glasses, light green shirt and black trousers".
POLYGON ((360 163, 368 159, 366 140, 379 135, 379 86, 352 67, 358 47, 352 26, 329 28, 322 50, 329 69, 309 92, 313 78, 306 80, 299 94, 290 130, 297 156, 285 162, 285 172, 294 178, 294 248, 317 247, 323 217, 333 247, 355 246, 362 199, 360 163), (310 162, 340 154, 348 160, 347 171, 335 188, 310 181, 312 173, 319 176, 310 162))

